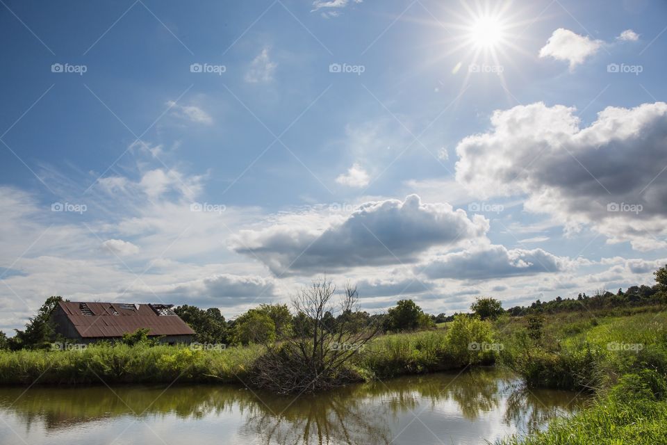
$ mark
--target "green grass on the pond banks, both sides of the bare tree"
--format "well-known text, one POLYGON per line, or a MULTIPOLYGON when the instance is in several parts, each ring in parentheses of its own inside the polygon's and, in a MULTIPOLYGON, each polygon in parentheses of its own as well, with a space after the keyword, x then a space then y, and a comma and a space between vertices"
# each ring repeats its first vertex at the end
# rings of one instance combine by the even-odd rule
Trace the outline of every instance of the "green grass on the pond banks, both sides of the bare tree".
MULTIPOLYGON (((384 335, 349 366, 367 380, 498 362, 528 385, 593 391, 596 401, 546 430, 503 445, 666 444, 667 314, 561 313, 529 330, 525 318, 494 323, 457 318, 438 329, 384 335), (500 345, 500 350, 470 344, 500 345)), ((190 350, 186 346, 101 344, 85 350, 0 352, 0 384, 245 381, 260 346, 190 350)))

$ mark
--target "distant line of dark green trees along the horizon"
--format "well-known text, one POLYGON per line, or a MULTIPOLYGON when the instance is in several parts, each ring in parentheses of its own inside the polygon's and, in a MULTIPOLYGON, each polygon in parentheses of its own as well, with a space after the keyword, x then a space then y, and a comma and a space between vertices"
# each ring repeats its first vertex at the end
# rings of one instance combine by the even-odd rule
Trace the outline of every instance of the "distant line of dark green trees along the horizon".
MULTIPOLYGON (((479 316, 482 320, 494 319, 502 314, 509 316, 527 316, 536 314, 552 314, 555 312, 572 312, 591 309, 618 307, 637 307, 642 305, 659 305, 667 303, 667 265, 654 272, 654 286, 630 286, 617 293, 598 291, 593 296, 579 293, 577 298, 561 298, 542 302, 536 300, 528 306, 516 306, 503 309, 500 300, 491 297, 478 297, 470 306, 470 316, 479 316)), ((326 280, 317 281, 324 286, 326 280)), ((331 282, 328 291, 335 291, 331 282), (332 290, 333 289, 333 290, 332 290)), ((321 291, 316 287, 311 291, 321 291)), ((358 299, 356 289, 347 286, 346 292, 354 291, 354 302, 358 299)), ((329 296, 329 300, 333 296, 329 296)), ((47 298, 35 316, 29 318, 23 330, 15 330, 15 336, 8 338, 0 331, 0 349, 42 349, 49 348, 53 341, 63 341, 56 336, 55 325, 51 314, 56 309, 60 296, 47 298)), ((293 300, 294 301, 294 300, 293 300)), ((328 300, 327 300, 328 301, 328 300)), ((193 305, 181 305, 174 309, 183 321, 195 331, 195 341, 199 343, 223 343, 226 345, 247 345, 249 343, 267 343, 276 340, 294 339, 297 337, 313 337, 314 332, 324 329, 336 332, 341 326, 346 332, 362 332, 372 327, 378 332, 405 332, 427 330, 438 323, 454 320, 459 313, 447 315, 427 314, 413 300, 400 300, 384 314, 369 314, 356 305, 343 308, 323 310, 318 318, 308 313, 305 305, 293 305, 292 310, 287 304, 262 304, 231 320, 226 320, 215 307, 201 309, 193 305)), ((126 342, 130 342, 127 340, 126 342)))

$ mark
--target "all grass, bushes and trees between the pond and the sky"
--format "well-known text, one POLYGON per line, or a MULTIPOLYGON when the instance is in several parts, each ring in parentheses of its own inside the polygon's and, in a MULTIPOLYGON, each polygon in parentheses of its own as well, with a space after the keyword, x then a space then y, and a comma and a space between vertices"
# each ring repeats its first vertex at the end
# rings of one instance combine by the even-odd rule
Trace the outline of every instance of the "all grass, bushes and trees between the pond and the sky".
POLYGON ((334 305, 335 288, 320 280, 291 312, 261 305, 229 322, 217 309, 177 308, 204 346, 234 345, 200 349, 160 346, 138 330, 113 344, 46 350, 60 299, 51 297, 14 338, 0 333, 0 384, 242 380, 284 394, 495 363, 529 387, 596 395, 579 414, 504 444, 586 444, 593 436, 600 444, 667 444, 667 266, 655 277, 652 287, 508 311, 477 298, 473 314, 446 317, 429 316, 412 300, 369 316, 356 307, 356 289, 348 286, 334 305))

